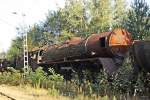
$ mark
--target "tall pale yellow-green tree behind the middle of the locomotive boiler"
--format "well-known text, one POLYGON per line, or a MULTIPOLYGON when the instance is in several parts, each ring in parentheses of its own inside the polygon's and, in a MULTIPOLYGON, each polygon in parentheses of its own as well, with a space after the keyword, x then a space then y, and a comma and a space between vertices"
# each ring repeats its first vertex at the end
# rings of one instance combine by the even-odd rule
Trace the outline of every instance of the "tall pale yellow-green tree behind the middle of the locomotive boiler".
POLYGON ((87 32, 88 23, 85 9, 84 0, 67 0, 68 5, 66 4, 66 12, 69 14, 67 22, 70 23, 70 32, 82 33, 87 32))

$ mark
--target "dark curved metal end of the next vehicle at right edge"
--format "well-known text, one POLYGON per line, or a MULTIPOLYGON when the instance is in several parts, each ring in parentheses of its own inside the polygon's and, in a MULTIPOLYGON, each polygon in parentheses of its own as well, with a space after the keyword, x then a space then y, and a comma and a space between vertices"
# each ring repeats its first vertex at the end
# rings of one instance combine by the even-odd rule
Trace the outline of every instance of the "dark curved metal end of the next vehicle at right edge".
POLYGON ((134 41, 132 50, 136 65, 150 72, 150 41, 134 41))

